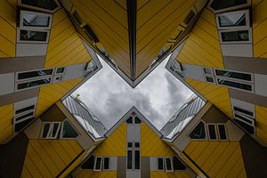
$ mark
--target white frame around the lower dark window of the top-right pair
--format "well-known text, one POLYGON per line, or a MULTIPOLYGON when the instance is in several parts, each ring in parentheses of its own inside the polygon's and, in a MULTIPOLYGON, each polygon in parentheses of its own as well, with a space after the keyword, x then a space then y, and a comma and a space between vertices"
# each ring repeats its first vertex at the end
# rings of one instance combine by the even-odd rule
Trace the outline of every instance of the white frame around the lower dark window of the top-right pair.
POLYGON ((220 38, 220 43, 221 44, 252 44, 252 28, 227 28, 227 29, 222 29, 218 30, 219 32, 219 38, 220 38), (233 31, 243 31, 247 30, 248 31, 248 41, 228 41, 228 42, 223 42, 223 37, 222 33, 223 32, 233 32, 233 31))

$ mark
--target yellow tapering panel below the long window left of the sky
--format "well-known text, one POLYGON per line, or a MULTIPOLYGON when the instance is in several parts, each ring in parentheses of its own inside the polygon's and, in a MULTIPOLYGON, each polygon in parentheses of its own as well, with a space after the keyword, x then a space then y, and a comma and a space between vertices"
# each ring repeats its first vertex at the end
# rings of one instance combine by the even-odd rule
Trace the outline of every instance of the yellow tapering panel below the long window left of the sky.
POLYGON ((49 109, 81 81, 82 78, 78 77, 53 85, 41 86, 36 107, 36 117, 40 116, 46 109, 49 109))

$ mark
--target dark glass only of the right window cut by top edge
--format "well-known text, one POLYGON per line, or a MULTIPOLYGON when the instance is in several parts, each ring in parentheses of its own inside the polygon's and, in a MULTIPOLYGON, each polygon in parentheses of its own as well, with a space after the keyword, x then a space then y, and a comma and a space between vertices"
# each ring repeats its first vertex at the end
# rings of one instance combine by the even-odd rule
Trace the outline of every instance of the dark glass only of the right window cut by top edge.
POLYGON ((210 6, 214 10, 220 10, 240 4, 247 4, 247 0, 214 0, 210 6))

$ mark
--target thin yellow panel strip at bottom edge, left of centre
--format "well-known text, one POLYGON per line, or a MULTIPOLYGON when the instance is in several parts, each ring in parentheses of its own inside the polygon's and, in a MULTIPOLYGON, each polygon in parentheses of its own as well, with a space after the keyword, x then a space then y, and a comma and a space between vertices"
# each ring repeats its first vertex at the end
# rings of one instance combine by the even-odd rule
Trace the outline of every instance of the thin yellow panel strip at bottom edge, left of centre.
POLYGON ((77 173, 77 178, 116 178, 117 172, 116 171, 85 171, 82 170, 79 173, 77 173))

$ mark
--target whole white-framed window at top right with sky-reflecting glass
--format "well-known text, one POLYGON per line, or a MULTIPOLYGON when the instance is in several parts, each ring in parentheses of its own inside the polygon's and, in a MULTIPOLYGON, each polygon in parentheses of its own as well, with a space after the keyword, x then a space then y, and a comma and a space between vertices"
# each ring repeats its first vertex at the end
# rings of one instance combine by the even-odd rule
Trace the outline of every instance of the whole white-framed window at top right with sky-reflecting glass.
POLYGON ((216 14, 218 29, 249 28, 249 10, 216 14))

